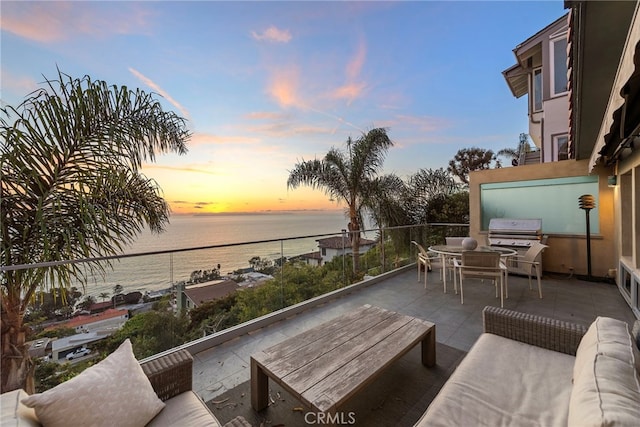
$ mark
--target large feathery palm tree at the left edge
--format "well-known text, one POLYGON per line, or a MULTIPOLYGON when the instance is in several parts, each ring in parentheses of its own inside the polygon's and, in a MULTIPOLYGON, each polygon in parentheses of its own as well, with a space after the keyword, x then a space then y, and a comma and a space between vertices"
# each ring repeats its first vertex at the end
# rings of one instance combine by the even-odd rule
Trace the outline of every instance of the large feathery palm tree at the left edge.
POLYGON ((186 153, 185 125, 152 94, 60 71, 0 110, 1 392, 34 390, 23 319, 36 290, 84 286, 109 264, 70 260, 121 253, 145 226, 163 230, 169 207, 139 168, 186 153))

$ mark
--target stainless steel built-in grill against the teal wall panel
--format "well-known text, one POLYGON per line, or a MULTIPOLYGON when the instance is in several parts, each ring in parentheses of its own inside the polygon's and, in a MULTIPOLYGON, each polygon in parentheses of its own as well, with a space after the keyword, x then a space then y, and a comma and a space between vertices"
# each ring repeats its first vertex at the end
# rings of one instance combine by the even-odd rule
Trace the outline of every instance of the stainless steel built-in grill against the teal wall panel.
MULTIPOLYGON (((546 244, 547 237, 542 235, 542 219, 492 218, 489 220, 489 246, 510 248, 524 255, 533 242, 546 244)), ((542 270, 542 256, 538 255, 542 270)))

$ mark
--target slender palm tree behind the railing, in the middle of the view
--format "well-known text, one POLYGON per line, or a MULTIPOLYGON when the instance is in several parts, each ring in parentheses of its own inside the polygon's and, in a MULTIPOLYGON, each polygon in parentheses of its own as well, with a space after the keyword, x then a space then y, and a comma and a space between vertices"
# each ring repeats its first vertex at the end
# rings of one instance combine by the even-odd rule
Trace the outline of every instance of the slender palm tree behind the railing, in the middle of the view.
POLYGON ((347 206, 349 235, 353 249, 353 272, 360 270, 360 231, 363 211, 377 190, 374 180, 393 142, 384 128, 372 129, 353 141, 347 139, 347 152, 332 147, 322 160, 302 161, 289 171, 288 188, 308 185, 321 189, 347 206))

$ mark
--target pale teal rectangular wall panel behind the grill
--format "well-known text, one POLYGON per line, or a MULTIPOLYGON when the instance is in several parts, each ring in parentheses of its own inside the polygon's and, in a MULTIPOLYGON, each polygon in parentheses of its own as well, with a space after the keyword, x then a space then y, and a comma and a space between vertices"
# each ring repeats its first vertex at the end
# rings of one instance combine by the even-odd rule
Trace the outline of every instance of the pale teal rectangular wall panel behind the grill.
POLYGON ((491 218, 541 218, 545 234, 585 234, 585 211, 578 198, 591 194, 596 201, 589 212, 590 231, 599 233, 598 177, 536 179, 480 185, 482 230, 491 218))

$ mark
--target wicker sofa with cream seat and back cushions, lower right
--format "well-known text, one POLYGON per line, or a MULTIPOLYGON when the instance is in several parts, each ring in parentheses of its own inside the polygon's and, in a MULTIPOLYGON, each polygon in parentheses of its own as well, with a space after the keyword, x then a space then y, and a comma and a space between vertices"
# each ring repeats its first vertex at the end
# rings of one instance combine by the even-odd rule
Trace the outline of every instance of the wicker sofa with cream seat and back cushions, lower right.
POLYGON ((483 323, 417 427, 640 425, 640 321, 485 307, 483 323))

